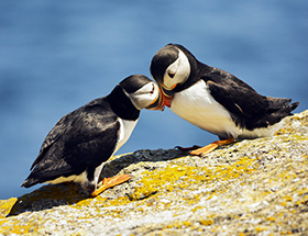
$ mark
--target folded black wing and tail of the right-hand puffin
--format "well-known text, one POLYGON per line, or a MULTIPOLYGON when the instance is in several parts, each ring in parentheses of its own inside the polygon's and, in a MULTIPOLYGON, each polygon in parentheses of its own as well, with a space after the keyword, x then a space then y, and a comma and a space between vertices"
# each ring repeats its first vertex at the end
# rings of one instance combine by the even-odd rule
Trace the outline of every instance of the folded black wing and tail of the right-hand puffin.
POLYGON ((201 76, 211 95, 230 112, 237 125, 248 130, 267 127, 290 115, 298 103, 290 99, 271 98, 258 94, 253 88, 233 75, 213 68, 201 76))

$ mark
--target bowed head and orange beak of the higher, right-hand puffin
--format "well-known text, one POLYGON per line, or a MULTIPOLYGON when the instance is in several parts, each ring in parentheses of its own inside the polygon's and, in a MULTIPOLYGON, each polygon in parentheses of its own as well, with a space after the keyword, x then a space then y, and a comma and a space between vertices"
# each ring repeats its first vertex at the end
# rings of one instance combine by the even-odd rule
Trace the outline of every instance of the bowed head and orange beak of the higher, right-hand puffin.
POLYGON ((165 105, 170 106, 173 90, 190 75, 188 57, 177 45, 168 44, 154 55, 150 70, 162 89, 165 105))

